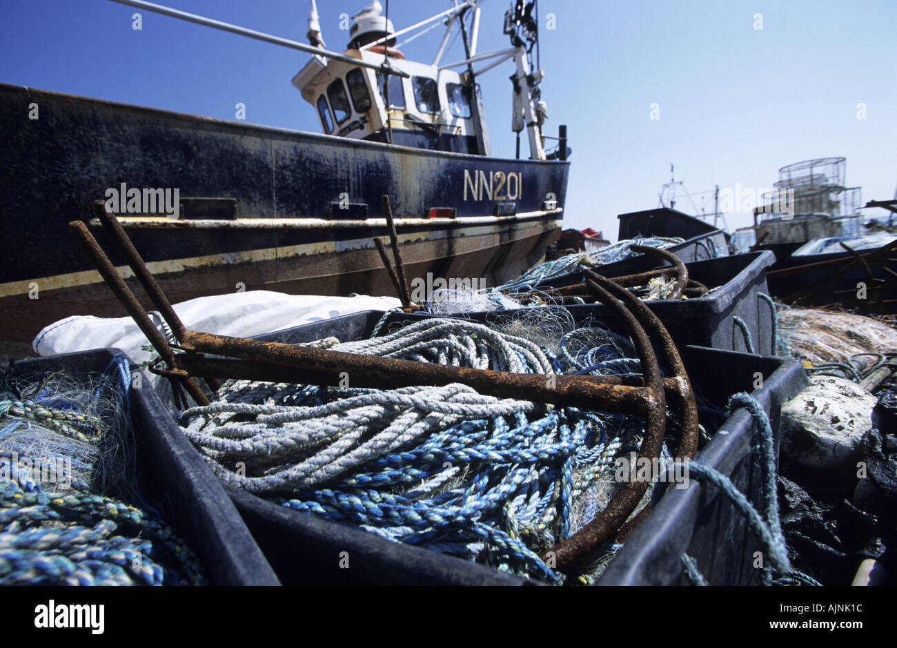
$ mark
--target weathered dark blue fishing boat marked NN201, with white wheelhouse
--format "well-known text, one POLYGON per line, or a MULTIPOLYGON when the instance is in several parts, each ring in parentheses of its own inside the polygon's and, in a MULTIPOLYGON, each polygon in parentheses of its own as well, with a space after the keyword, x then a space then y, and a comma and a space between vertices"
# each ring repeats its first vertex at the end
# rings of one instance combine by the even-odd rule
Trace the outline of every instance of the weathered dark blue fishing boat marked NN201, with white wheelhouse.
MULTIPOLYGON (((0 209, 12 249, 0 261, 0 340, 30 342, 69 315, 124 314, 66 232, 83 219, 107 242, 92 220, 98 199, 176 302, 239 290, 393 293, 372 241, 388 233, 383 196, 409 277, 497 285, 535 264, 561 232, 569 149, 561 127, 546 152, 555 138, 543 133, 542 72, 533 66, 535 0, 506 14, 510 47, 483 53, 479 0, 397 31, 373 2, 354 17, 342 52, 325 48, 314 2, 306 44, 115 1, 309 53, 292 84, 317 109, 322 132, 0 84, 0 209), (430 61, 396 47, 440 21, 430 61), (456 29, 466 57, 447 64, 456 29), (516 70, 515 157, 492 154, 477 83, 506 61, 516 70), (22 118, 35 111, 39 118, 22 118)), ((131 276, 123 258, 112 261, 131 276)))

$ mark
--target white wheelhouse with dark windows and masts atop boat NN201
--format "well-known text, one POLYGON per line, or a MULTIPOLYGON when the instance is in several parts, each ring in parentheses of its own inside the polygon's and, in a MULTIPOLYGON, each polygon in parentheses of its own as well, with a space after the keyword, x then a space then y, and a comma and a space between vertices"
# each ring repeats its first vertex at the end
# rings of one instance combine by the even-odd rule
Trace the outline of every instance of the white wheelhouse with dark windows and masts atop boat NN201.
MULTIPOLYGON (((511 128, 518 136, 527 131, 530 159, 566 159, 564 137, 558 137, 555 153, 546 155, 542 126, 547 109, 540 98, 543 72, 533 68, 537 45, 535 0, 519 0, 505 14, 505 33, 511 47, 478 54, 481 0, 466 0, 442 13, 395 31, 381 15, 379 0, 353 18, 350 40, 342 53, 324 49, 314 0, 309 12, 308 38, 314 48, 309 62, 292 78, 302 97, 314 106, 321 129, 327 135, 365 139, 414 148, 490 156, 489 138, 483 120, 483 99, 476 83, 480 74, 513 58, 517 74, 513 83, 511 128), (466 17, 470 17, 469 28, 466 17), (445 34, 430 64, 409 61, 396 49, 398 36, 431 22, 444 22, 445 34), (466 58, 441 63, 449 37, 456 28, 465 35, 466 58), (469 29, 469 38, 468 38, 469 29), (319 53, 318 53, 319 52, 319 53), (490 61, 485 63, 485 61, 490 61), (474 64, 483 64, 475 70, 474 64), (456 71, 453 68, 466 68, 456 71)), ((434 26, 438 26, 434 25, 434 26)), ((421 36, 424 28, 405 42, 421 36)))

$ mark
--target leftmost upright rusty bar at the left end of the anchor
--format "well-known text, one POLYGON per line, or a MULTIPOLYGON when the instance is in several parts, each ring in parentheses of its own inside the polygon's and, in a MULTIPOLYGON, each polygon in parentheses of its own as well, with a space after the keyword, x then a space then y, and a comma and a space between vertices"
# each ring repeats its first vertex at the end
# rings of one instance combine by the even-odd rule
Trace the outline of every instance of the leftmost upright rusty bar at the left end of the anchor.
MULTIPOLYGON (((175 364, 174 352, 171 350, 168 340, 162 336, 158 328, 152 325, 152 321, 150 321, 149 316, 144 311, 144 307, 140 305, 135 294, 127 287, 125 280, 118 274, 109 257, 106 256, 106 253, 100 248, 100 244, 93 238, 93 234, 87 229, 87 225, 81 221, 72 221, 68 223, 68 231, 83 250, 87 252, 88 256, 93 259, 94 266, 97 268, 100 276, 103 277, 106 285, 109 286, 109 290, 118 298, 118 302, 125 307, 128 315, 134 319, 135 324, 143 331, 144 336, 150 341, 156 352, 166 363, 173 366, 175 364)), ((184 377, 181 379, 181 382, 183 382, 187 392, 198 405, 209 404, 209 399, 205 397, 203 390, 199 389, 196 381, 192 378, 184 377)))

